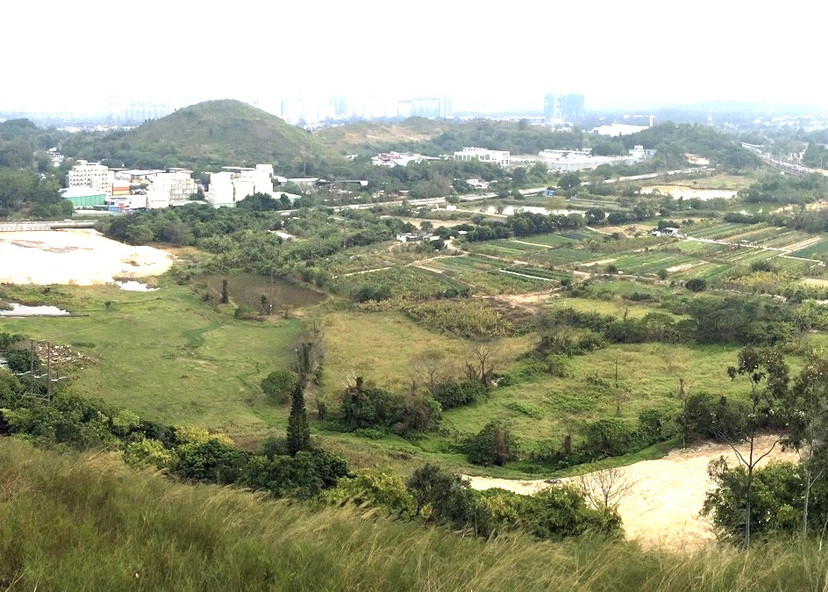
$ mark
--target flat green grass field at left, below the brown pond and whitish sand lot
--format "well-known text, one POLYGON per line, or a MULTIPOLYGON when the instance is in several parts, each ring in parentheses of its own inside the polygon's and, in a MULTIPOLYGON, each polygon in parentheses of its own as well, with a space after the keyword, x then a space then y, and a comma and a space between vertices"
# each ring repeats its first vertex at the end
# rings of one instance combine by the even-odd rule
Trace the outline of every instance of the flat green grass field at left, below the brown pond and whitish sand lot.
POLYGON ((77 370, 72 391, 232 434, 262 433, 283 415, 264 402, 259 382, 287 365, 299 320, 237 321, 172 282, 158 292, 66 286, 48 296, 87 316, 2 318, 0 331, 70 344, 95 360, 77 370))

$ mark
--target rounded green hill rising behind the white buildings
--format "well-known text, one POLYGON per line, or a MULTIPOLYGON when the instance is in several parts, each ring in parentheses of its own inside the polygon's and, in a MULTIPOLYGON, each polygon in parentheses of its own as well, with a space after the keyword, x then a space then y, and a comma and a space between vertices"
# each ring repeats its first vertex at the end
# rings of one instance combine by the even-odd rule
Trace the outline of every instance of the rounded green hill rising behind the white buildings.
POLYGON ((206 101, 128 132, 85 134, 67 155, 123 166, 296 165, 336 159, 312 134, 235 100, 206 101))

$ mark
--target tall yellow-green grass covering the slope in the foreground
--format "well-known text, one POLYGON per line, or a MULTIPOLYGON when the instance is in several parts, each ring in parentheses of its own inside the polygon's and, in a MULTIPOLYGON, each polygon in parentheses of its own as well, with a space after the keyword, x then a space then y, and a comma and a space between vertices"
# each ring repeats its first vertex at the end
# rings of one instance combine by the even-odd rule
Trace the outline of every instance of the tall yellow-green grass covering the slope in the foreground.
POLYGON ((819 591, 828 556, 778 542, 670 553, 593 538, 484 541, 266 501, 0 440, 0 587, 9 591, 819 591))

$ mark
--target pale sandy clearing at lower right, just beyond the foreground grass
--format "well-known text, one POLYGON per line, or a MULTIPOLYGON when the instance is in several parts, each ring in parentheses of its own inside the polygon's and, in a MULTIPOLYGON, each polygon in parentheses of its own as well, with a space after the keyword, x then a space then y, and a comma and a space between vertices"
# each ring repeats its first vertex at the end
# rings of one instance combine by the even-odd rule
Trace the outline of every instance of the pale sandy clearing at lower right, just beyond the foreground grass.
MULTIPOLYGON (((774 440, 772 436, 761 437, 757 450, 767 450, 774 440)), ((712 486, 707 476, 707 465, 719 456, 727 458, 731 466, 738 462, 730 447, 704 444, 674 450, 658 460, 645 460, 623 467, 625 477, 633 483, 630 492, 618 505, 627 538, 644 546, 669 548, 701 546, 713 540, 710 525, 699 516, 699 512, 704 496, 712 486)), ((794 453, 783 452, 777 445, 768 459, 795 461, 798 457, 794 453)), ((467 478, 474 489, 500 487, 524 495, 551 487, 544 480, 467 478)))

